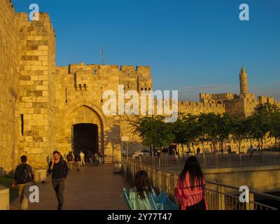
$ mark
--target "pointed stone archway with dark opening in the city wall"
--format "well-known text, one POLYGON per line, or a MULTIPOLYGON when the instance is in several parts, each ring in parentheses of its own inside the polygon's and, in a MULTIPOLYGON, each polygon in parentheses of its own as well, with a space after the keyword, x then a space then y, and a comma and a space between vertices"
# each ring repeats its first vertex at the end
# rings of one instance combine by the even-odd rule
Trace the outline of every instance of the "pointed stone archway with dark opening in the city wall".
POLYGON ((104 153, 106 118, 102 111, 88 102, 71 104, 65 109, 57 129, 57 149, 66 155, 69 151, 104 153))

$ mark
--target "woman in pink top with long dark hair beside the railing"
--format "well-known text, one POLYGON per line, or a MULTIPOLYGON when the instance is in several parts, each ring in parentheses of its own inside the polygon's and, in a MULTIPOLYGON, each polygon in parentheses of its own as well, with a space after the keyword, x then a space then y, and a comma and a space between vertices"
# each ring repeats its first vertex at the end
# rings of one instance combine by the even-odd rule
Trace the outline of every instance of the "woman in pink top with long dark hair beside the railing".
POLYGON ((190 156, 175 188, 175 195, 179 201, 180 209, 207 210, 204 190, 205 179, 200 162, 194 156, 190 156))

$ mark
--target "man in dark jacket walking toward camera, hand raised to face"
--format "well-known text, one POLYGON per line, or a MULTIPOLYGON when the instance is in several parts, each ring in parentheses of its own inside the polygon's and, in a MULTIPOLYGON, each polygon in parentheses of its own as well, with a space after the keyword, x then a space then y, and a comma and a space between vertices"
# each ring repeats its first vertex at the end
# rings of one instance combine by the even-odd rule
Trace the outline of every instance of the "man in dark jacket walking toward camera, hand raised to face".
POLYGON ((64 203, 64 187, 65 179, 68 175, 68 166, 66 162, 60 158, 59 152, 55 151, 52 153, 53 159, 50 162, 48 174, 52 174, 52 188, 55 190, 55 195, 57 196, 57 210, 62 210, 64 203))

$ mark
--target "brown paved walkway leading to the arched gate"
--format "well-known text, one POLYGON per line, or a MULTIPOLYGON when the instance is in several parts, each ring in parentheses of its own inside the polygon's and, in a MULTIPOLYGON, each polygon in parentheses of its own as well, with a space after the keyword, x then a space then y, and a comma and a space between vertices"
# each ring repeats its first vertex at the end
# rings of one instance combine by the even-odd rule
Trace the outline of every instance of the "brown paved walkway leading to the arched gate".
MULTIPOLYGON (((75 166, 73 168, 76 168, 75 166)), ((57 200, 52 189, 50 176, 44 184, 38 184, 40 202, 30 203, 29 210, 55 210, 57 200)), ((122 174, 113 174, 113 165, 82 167, 73 171, 66 179, 64 190, 64 210, 125 210, 127 206, 120 196, 123 188, 128 188, 122 174)), ((10 204, 10 209, 19 209, 19 199, 10 204)))

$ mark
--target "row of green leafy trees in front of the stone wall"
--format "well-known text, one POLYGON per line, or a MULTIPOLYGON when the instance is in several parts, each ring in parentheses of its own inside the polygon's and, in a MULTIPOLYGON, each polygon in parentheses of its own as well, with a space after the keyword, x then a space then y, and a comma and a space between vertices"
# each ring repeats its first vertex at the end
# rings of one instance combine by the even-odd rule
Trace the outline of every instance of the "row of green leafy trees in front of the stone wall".
POLYGON ((211 151, 216 149, 218 142, 223 150, 223 144, 233 139, 237 141, 240 152, 244 139, 256 139, 260 149, 267 136, 280 141, 280 110, 272 104, 257 106, 248 118, 230 116, 228 113, 179 113, 175 123, 165 123, 163 116, 146 116, 137 117, 132 125, 143 145, 152 148, 177 144, 183 151, 184 145, 209 141, 211 151))

